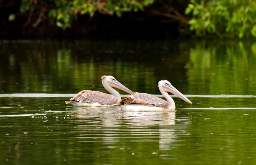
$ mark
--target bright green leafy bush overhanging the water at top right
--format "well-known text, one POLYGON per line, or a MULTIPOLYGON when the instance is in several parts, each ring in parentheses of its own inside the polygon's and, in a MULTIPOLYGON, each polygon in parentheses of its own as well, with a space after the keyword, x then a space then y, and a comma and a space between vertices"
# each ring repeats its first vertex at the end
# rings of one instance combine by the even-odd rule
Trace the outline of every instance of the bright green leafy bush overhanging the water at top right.
POLYGON ((256 37, 256 1, 191 0, 185 14, 191 14, 190 30, 197 36, 256 37))

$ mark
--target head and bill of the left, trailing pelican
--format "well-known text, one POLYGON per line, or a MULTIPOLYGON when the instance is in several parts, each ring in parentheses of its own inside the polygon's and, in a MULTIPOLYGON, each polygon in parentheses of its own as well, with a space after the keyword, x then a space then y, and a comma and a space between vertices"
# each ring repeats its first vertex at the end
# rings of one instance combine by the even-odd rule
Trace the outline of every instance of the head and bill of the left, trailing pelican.
POLYGON ((118 82, 113 76, 102 76, 101 77, 102 84, 107 84, 111 87, 121 89, 129 94, 133 93, 130 89, 126 88, 123 84, 118 82))

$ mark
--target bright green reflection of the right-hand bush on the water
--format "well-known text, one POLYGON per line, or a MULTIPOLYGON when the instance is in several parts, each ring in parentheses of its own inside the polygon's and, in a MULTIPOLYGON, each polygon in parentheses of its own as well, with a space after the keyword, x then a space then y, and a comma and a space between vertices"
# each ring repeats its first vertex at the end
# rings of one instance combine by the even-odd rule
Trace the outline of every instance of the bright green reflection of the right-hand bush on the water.
POLYGON ((256 58, 251 51, 255 51, 255 43, 198 43, 195 48, 191 48, 190 63, 187 64, 189 81, 197 83, 190 90, 202 95, 254 95, 256 58), (201 88, 202 85, 205 88, 201 88))

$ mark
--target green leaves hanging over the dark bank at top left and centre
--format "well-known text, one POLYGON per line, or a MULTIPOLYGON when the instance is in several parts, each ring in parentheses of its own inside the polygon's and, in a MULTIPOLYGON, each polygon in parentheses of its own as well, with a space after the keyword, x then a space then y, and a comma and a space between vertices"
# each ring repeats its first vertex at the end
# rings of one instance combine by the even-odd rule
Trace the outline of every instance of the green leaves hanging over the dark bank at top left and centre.
POLYGON ((143 11, 145 6, 151 5, 155 0, 22 0, 20 11, 26 13, 33 12, 35 6, 47 4, 52 6, 47 16, 56 21, 56 25, 61 28, 70 28, 71 23, 77 18, 77 15, 89 14, 91 17, 95 12, 122 16, 124 12, 143 11))

